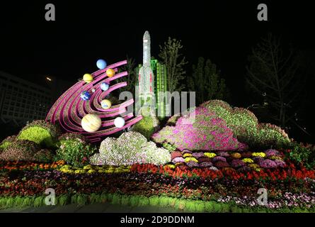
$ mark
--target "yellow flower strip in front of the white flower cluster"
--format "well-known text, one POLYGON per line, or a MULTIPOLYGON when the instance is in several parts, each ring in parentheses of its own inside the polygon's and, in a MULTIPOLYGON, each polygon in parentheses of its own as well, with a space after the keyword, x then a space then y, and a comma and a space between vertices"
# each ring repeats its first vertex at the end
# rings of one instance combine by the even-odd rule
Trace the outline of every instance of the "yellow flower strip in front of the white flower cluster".
POLYGON ((101 173, 121 173, 130 172, 130 166, 96 166, 96 165, 86 165, 82 168, 72 167, 71 165, 64 165, 59 169, 60 172, 70 173, 70 174, 92 174, 96 172, 101 173))

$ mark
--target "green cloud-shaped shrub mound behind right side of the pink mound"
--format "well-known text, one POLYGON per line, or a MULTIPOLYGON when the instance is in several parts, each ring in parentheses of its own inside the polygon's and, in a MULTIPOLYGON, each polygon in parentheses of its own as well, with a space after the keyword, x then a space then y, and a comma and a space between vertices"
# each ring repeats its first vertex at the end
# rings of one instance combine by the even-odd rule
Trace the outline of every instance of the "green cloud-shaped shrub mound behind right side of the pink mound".
POLYGON ((232 129, 236 138, 252 148, 281 148, 290 143, 290 139, 280 127, 270 123, 258 123, 256 116, 247 109, 232 108, 225 101, 210 100, 200 106, 214 111, 232 129))

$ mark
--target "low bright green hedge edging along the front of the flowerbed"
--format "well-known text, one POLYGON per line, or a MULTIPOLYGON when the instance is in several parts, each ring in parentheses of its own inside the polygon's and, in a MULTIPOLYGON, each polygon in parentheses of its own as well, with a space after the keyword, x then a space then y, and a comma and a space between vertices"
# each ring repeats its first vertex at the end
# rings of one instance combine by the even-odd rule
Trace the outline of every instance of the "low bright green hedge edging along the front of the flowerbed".
MULTIPOLYGON (((62 194, 56 197, 56 205, 64 206, 67 204, 98 204, 110 202, 111 204, 122 204, 126 206, 162 206, 171 207, 188 212, 211 212, 211 213, 315 213, 315 207, 311 209, 303 208, 282 208, 268 209, 265 207, 239 206, 235 203, 219 203, 216 201, 196 201, 192 199, 177 199, 168 196, 141 196, 141 195, 122 195, 122 194, 62 194)), ((25 206, 45 206, 45 196, 15 196, 0 197, 0 209, 25 206)))

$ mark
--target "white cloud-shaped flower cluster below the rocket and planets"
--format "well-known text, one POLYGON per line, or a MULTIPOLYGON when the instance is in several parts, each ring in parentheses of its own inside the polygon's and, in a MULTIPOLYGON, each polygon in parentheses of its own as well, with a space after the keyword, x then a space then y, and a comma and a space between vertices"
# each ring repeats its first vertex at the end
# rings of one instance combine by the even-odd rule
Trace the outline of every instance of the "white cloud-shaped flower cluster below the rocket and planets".
POLYGON ((171 155, 164 148, 148 142, 144 135, 127 132, 119 138, 105 138, 101 143, 100 153, 90 158, 92 165, 132 165, 151 163, 163 165, 171 161, 171 155))

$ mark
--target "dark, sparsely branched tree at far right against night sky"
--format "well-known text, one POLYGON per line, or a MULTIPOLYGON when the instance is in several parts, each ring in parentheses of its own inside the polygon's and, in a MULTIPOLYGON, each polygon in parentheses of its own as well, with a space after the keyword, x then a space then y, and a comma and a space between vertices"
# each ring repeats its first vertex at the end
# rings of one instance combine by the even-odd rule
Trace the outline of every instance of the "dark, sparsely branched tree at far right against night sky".
POLYGON ((292 45, 285 48, 280 38, 272 34, 263 38, 248 57, 246 82, 249 88, 263 96, 273 120, 284 128, 302 103, 305 74, 300 59, 292 45))

